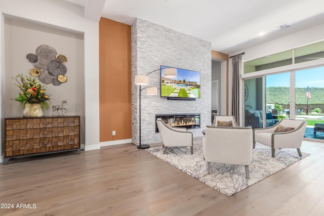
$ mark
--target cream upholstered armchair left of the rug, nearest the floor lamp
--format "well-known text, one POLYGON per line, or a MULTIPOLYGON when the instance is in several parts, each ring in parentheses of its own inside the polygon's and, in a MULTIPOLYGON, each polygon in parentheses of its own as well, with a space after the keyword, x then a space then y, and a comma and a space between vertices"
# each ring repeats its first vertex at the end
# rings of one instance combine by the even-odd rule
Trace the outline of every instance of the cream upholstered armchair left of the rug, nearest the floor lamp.
POLYGON ((169 126, 161 118, 156 119, 156 124, 163 143, 164 154, 167 148, 172 146, 189 146, 193 154, 193 135, 187 132, 187 128, 169 126))

